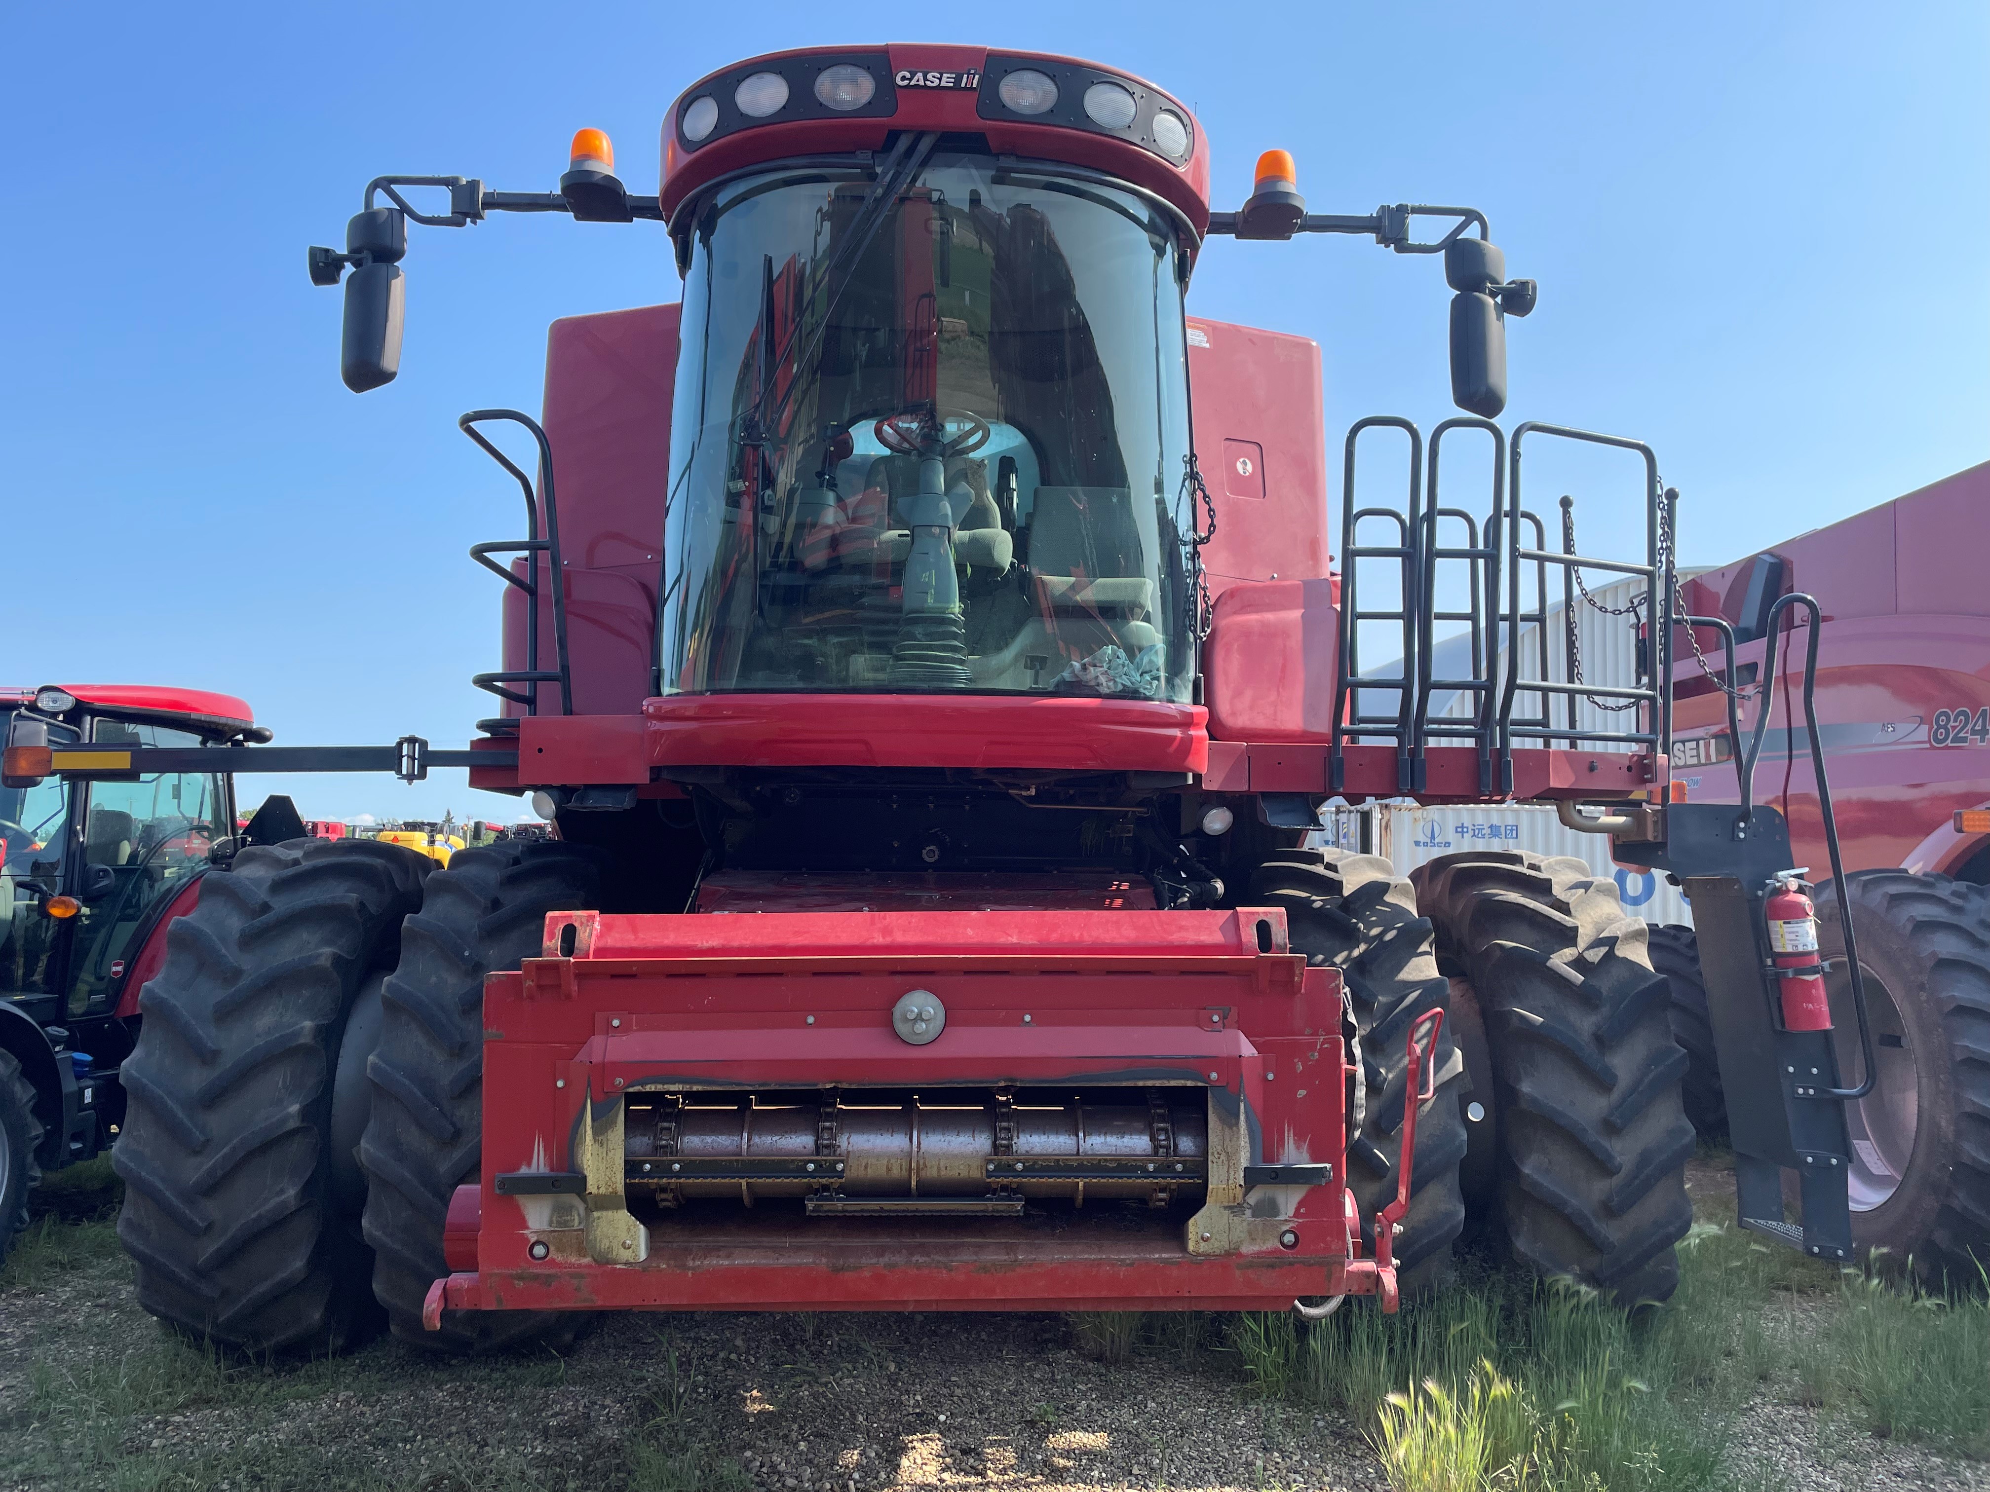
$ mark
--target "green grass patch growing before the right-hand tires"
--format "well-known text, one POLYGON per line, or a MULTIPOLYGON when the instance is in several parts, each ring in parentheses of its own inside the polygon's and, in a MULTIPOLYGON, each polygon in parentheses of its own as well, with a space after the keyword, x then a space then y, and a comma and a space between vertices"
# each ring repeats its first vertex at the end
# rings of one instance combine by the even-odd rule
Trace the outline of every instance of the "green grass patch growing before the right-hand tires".
POLYGON ((1773 1484, 1727 1456, 1761 1399, 1990 1456, 1990 1301, 1835 1273, 1711 1221, 1686 1239, 1664 1309, 1489 1275, 1395 1319, 1238 1317, 1232 1349, 1256 1393, 1345 1412, 1401 1492, 1773 1484))

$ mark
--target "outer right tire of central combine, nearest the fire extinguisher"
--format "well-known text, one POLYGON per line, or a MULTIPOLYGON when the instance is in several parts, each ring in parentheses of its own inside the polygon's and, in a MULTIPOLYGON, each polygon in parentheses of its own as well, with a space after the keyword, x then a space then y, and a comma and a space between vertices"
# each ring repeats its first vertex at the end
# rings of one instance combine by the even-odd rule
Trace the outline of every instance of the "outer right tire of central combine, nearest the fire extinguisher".
POLYGON ((1644 923, 1566 855, 1445 855, 1413 879, 1485 1015, 1510 1251, 1626 1307, 1668 1299, 1693 1128, 1644 923))

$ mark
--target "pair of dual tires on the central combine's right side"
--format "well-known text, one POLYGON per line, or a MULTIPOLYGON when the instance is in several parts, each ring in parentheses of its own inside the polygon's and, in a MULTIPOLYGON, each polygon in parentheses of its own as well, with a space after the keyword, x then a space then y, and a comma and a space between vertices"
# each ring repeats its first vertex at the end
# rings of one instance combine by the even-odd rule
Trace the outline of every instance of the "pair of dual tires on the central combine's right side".
POLYGON ((1375 855, 1288 849, 1248 901, 1286 907, 1294 951, 1341 971, 1369 1247, 1397 1190, 1409 1028, 1447 1011, 1395 1241, 1407 1295, 1445 1279, 1467 1231, 1628 1307, 1672 1295, 1692 1225, 1688 1060, 1614 881, 1568 857, 1447 855, 1405 879, 1375 855))

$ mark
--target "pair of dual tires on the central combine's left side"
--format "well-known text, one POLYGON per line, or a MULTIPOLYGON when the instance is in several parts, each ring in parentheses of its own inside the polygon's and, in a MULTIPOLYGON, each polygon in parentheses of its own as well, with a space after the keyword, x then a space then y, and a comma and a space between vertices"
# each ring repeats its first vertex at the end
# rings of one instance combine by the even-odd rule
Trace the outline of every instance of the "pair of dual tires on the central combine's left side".
POLYGON ((123 1066, 117 1233, 139 1303, 253 1353, 336 1353, 382 1323, 458 1353, 571 1339, 569 1315, 440 1333, 420 1315, 448 1273, 450 1194, 480 1170, 484 975, 535 955, 547 911, 597 897, 589 851, 559 841, 436 869, 297 839, 209 875, 123 1066))

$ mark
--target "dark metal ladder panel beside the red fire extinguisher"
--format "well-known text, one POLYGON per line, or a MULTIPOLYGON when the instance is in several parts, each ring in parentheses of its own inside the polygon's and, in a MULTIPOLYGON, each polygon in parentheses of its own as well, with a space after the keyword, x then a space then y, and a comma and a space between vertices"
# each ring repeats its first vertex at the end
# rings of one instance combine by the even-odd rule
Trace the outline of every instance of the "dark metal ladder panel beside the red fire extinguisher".
POLYGON ((1741 1225, 1821 1259, 1853 1251, 1851 1136, 1827 1030, 1785 1030, 1763 897, 1791 869, 1789 826, 1773 808, 1745 818, 1725 804, 1672 804, 1664 841, 1618 841, 1620 861, 1680 877, 1693 903, 1699 973, 1735 1150, 1741 1225), (1783 1221, 1783 1172, 1801 1192, 1801 1225, 1783 1221))

